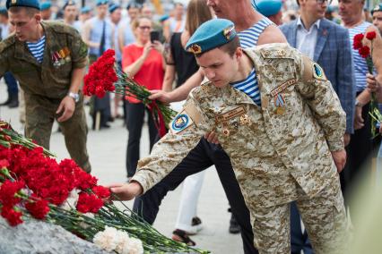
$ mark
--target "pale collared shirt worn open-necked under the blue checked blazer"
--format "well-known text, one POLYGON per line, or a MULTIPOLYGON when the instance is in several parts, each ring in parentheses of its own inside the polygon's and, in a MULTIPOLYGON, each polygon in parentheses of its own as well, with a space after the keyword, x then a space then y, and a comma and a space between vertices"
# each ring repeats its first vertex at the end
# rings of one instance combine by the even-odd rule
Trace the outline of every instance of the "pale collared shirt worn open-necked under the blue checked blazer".
POLYGON ((300 52, 313 59, 317 44, 318 29, 321 20, 314 22, 307 30, 299 17, 297 21, 296 47, 300 52))

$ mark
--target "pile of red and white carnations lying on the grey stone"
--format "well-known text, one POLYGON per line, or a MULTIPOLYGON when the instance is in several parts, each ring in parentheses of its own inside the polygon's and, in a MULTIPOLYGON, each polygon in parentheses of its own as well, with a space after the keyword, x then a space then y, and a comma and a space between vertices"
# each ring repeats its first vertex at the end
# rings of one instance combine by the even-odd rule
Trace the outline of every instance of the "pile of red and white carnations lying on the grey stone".
POLYGON ((163 236, 122 202, 124 211, 105 202, 110 191, 97 182, 73 160, 57 163, 0 120, 0 215, 10 225, 43 220, 117 253, 205 253, 163 236))

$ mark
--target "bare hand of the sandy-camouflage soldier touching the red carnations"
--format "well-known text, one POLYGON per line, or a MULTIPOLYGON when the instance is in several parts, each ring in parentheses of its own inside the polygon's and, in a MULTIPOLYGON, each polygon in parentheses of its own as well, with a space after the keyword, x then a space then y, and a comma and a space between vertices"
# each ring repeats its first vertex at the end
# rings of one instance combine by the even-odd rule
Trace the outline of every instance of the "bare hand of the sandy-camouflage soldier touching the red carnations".
POLYGON ((111 195, 110 199, 116 199, 116 197, 113 196, 117 196, 117 200, 126 201, 134 199, 143 193, 143 188, 138 182, 117 183, 109 185, 108 187, 114 194, 111 195))

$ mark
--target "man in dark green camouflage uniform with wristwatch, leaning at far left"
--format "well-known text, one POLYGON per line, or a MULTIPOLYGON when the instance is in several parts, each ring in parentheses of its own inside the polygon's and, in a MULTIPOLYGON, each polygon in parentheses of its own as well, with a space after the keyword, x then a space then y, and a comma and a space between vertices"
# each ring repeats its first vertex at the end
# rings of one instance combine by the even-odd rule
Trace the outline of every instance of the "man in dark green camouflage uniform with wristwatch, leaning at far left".
POLYGON ((86 149, 87 125, 79 95, 87 47, 79 33, 62 22, 41 21, 39 1, 8 0, 6 7, 15 33, 0 43, 0 76, 12 72, 25 92, 25 133, 49 148, 57 120, 74 161, 91 171, 86 149), (41 63, 27 42, 45 35, 41 63))

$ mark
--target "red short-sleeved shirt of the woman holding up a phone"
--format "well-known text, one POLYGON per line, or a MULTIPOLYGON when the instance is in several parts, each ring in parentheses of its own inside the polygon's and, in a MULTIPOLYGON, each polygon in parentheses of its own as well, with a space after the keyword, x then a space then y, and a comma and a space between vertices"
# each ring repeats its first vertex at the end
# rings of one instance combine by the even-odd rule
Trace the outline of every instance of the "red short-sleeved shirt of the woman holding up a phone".
MULTIPOLYGON (((122 55, 122 68, 135 63, 139 57, 143 55, 143 47, 130 44, 124 47, 122 55)), ((163 60, 161 53, 152 49, 144 60, 141 69, 136 72, 133 79, 141 86, 146 87, 149 90, 161 89, 164 79, 163 60)), ((134 97, 127 97, 130 103, 139 103, 140 101, 134 97)))

